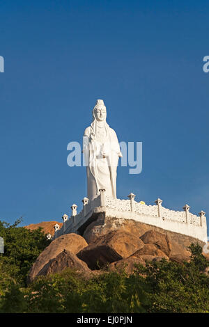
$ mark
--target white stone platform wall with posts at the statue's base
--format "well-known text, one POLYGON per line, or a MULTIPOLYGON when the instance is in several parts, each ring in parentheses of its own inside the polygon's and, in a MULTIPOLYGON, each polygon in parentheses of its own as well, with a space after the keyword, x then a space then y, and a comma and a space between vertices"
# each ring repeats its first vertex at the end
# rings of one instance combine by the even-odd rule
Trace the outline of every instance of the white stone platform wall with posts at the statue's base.
POLYGON ((164 230, 185 234, 207 242, 206 213, 201 211, 199 216, 189 212, 189 206, 183 207, 184 211, 174 211, 162 207, 162 200, 157 199, 156 205, 146 205, 134 200, 130 193, 129 200, 120 200, 105 196, 105 190, 100 190, 100 196, 92 201, 87 198, 82 200, 83 209, 77 214, 77 205, 72 205, 72 215, 63 215, 63 226, 54 226, 54 238, 71 232, 80 234, 98 214, 104 212, 105 216, 112 218, 133 219, 148 225, 154 225, 164 230))

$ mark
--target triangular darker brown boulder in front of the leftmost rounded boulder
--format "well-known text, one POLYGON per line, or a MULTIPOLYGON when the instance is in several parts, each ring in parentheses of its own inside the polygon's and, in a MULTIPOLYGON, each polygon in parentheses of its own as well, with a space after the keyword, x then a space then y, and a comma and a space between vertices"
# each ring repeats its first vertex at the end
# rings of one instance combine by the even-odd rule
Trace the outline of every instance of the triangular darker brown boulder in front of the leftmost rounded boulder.
POLYGON ((91 275, 91 270, 88 269, 86 262, 79 260, 74 253, 63 250, 63 252, 59 253, 54 259, 49 260, 49 262, 42 267, 37 277, 47 276, 50 273, 59 273, 66 268, 75 269, 75 271, 79 273, 84 273, 85 276, 91 275))

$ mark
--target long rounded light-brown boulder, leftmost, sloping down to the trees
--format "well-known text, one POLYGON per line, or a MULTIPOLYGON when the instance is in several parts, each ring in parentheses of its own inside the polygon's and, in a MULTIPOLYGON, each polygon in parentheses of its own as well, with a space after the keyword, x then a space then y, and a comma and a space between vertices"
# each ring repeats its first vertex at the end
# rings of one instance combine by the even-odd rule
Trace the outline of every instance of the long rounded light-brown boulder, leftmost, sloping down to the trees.
POLYGON ((54 259, 64 249, 76 254, 82 248, 85 248, 87 243, 85 239, 77 234, 65 234, 57 239, 54 239, 45 250, 40 253, 39 257, 34 262, 31 270, 29 271, 28 282, 32 282, 33 279, 38 275, 39 271, 49 262, 54 259))

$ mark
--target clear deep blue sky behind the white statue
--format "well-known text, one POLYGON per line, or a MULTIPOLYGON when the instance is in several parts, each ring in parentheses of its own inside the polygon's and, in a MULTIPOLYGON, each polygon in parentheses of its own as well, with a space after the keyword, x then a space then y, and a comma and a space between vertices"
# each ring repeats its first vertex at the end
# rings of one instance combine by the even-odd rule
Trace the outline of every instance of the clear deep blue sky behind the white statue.
POLYGON ((187 203, 209 217, 208 1, 1 1, 0 219, 59 220, 82 207, 85 168, 67 165, 95 99, 143 170, 118 168, 118 198, 187 203))

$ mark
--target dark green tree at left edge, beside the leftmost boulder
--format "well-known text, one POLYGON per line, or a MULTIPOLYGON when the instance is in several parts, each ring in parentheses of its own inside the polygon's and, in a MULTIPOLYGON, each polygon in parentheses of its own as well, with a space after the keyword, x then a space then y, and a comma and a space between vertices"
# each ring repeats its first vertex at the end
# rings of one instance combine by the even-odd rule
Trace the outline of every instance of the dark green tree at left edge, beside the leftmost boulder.
POLYGON ((4 253, 0 255, 0 294, 5 279, 26 285, 29 269, 50 243, 41 228, 27 230, 18 227, 21 221, 18 219, 13 225, 0 221, 0 236, 4 240, 4 253))

